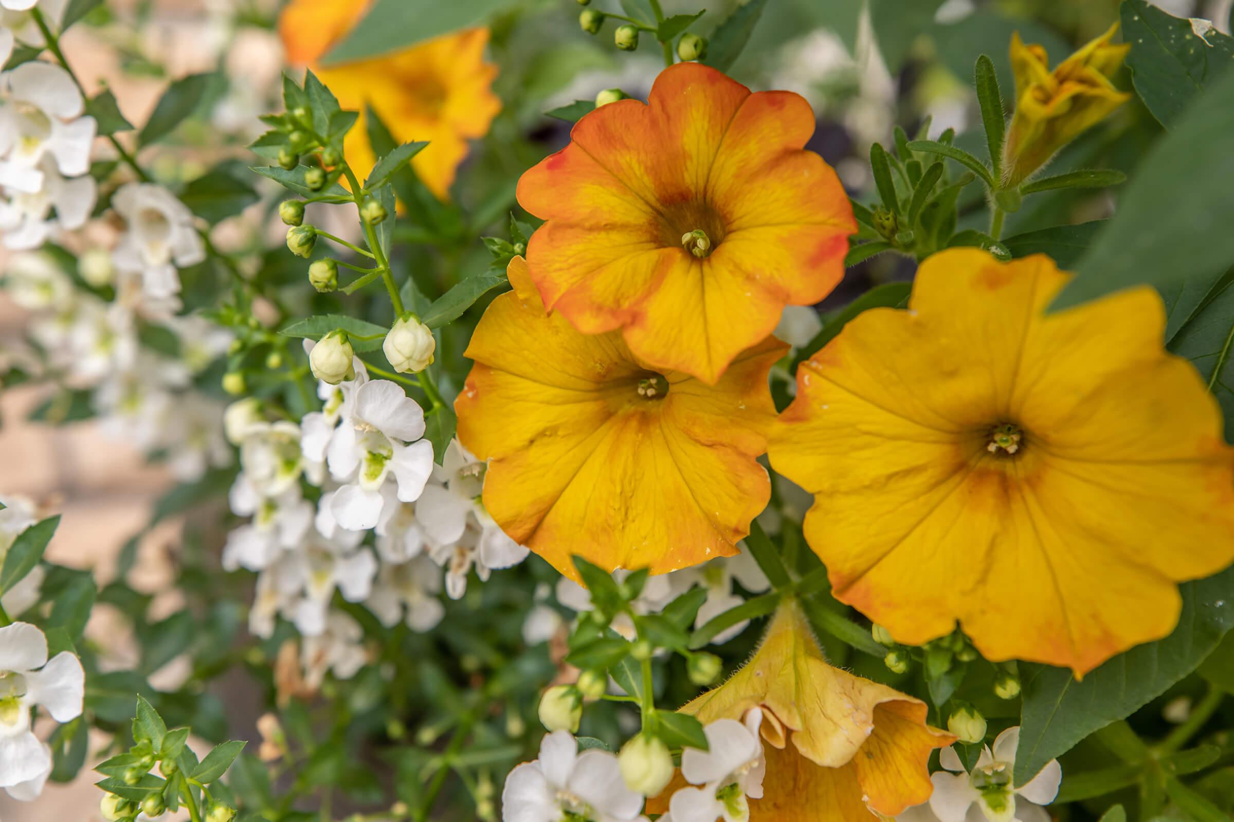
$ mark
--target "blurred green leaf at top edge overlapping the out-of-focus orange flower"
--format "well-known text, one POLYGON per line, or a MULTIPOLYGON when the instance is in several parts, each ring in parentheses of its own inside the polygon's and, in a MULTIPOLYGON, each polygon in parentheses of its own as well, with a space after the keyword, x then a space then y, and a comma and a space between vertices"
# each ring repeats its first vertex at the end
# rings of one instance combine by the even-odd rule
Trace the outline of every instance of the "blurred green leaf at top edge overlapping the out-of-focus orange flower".
POLYGON ((487 20, 511 0, 378 0, 322 60, 323 65, 376 57, 487 20))

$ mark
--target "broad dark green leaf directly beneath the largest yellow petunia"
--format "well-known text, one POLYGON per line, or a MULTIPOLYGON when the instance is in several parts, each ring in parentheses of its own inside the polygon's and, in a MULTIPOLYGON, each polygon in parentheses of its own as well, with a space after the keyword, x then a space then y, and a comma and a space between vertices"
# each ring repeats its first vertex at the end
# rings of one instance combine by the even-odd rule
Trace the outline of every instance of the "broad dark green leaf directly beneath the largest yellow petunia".
POLYGON ((1178 587, 1182 612, 1170 636, 1137 646, 1076 682, 1071 672, 1021 663, 1023 705, 1013 781, 1124 718, 1186 677, 1234 626, 1234 568, 1178 587))

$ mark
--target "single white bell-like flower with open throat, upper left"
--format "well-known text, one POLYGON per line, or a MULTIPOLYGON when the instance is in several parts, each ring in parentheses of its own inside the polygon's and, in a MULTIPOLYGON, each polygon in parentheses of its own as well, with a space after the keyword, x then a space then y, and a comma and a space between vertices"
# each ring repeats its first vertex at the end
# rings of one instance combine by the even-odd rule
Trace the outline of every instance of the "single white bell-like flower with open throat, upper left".
POLYGON ((112 253, 116 267, 139 274, 142 288, 151 297, 178 293, 176 269, 206 259, 193 212, 153 182, 126 182, 111 198, 111 207, 128 227, 112 253))

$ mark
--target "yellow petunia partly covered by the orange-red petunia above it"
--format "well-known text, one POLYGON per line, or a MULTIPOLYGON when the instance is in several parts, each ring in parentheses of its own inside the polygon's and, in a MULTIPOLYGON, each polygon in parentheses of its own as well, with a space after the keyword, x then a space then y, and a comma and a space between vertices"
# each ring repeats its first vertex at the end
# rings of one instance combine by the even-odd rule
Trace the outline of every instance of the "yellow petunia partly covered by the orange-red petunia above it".
POLYGON ((733 556, 770 497, 756 457, 775 408, 768 338, 714 386, 658 371, 616 333, 545 313, 522 258, 513 292, 471 336, 458 435, 489 461, 484 505, 520 545, 578 579, 571 555, 664 573, 733 556))

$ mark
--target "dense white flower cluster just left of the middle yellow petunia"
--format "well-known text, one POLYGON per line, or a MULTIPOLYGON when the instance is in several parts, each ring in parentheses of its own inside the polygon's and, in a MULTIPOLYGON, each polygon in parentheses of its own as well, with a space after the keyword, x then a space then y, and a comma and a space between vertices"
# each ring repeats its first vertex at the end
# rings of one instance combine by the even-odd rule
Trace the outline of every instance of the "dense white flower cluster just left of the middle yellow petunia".
POLYGON ((342 678, 363 664, 362 637, 332 609, 334 592, 386 626, 423 632, 444 615, 443 568, 458 599, 471 568, 487 579, 528 553, 480 503, 484 463, 453 441, 444 465, 433 465, 420 405, 396 383, 369 380, 358 357, 352 367, 352 380, 318 383, 323 408, 300 425, 267 420, 254 398, 226 414, 242 466, 231 508, 252 520, 228 536, 223 567, 258 572, 249 629, 269 636, 278 616, 290 620, 306 637, 310 673, 328 667, 342 678), (316 507, 302 483, 321 489, 316 507))

